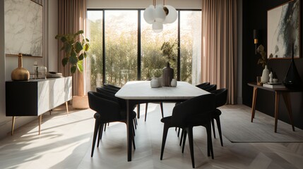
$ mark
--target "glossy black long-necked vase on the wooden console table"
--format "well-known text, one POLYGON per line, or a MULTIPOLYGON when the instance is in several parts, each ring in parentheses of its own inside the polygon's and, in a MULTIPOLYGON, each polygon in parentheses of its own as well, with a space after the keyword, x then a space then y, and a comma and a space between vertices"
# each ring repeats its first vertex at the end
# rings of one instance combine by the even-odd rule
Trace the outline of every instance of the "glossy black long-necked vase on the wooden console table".
POLYGON ((294 60, 294 46, 292 44, 292 62, 290 68, 288 68, 287 75, 283 80, 283 84, 288 89, 302 89, 302 80, 299 76, 297 67, 294 60))

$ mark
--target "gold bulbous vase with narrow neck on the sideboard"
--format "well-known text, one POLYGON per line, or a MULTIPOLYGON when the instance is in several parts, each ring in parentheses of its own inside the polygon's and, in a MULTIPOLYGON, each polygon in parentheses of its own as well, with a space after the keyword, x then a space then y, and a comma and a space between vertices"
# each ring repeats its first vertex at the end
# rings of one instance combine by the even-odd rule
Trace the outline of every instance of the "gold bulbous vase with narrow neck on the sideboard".
POLYGON ((18 68, 11 72, 11 80, 21 81, 21 80, 29 80, 30 72, 25 68, 22 68, 22 54, 18 55, 18 68))

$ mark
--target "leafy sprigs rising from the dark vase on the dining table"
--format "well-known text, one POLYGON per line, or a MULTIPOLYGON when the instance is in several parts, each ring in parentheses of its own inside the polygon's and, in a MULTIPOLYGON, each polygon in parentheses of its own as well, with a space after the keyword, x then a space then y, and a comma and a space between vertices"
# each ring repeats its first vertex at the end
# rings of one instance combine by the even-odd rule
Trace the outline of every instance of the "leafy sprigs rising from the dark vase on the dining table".
POLYGON ((167 62, 177 61, 176 50, 178 49, 178 43, 164 42, 161 46, 162 55, 165 56, 167 62))

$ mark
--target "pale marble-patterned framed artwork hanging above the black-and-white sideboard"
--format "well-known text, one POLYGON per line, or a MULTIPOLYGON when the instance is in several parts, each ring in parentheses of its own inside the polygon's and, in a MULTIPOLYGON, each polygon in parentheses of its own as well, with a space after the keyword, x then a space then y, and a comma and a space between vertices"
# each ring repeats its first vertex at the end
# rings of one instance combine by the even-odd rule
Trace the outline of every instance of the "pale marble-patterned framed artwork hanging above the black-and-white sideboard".
POLYGON ((42 56, 42 6, 30 0, 4 0, 6 54, 42 56))

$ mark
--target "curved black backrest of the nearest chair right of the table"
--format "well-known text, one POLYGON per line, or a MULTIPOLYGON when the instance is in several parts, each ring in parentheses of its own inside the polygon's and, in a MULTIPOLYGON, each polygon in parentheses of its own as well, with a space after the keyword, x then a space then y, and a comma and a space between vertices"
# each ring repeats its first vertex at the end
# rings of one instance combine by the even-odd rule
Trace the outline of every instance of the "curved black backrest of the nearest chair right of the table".
POLYGON ((188 119, 199 113, 210 113, 215 109, 215 94, 204 94, 174 106, 172 123, 179 127, 188 125, 188 119))

